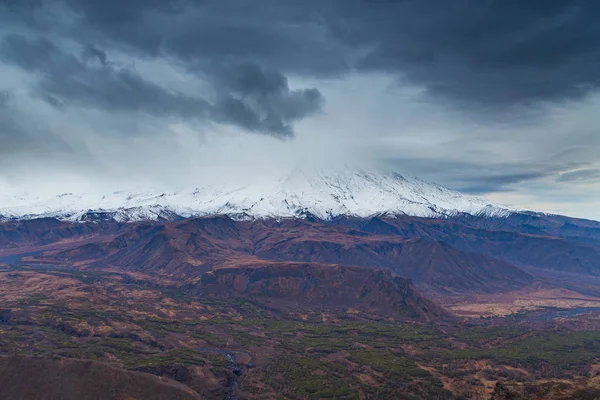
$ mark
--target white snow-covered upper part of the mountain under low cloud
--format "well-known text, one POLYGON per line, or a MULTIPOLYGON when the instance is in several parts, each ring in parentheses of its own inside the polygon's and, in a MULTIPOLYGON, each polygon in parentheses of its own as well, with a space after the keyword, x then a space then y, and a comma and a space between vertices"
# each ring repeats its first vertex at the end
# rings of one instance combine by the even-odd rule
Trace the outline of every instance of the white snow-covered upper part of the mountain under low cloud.
POLYGON ((212 214, 237 218, 299 217, 329 219, 376 214, 419 217, 457 213, 506 216, 507 208, 394 172, 351 169, 296 169, 273 178, 221 181, 174 192, 117 191, 106 194, 0 196, 4 219, 56 217, 83 221, 177 219, 212 214))

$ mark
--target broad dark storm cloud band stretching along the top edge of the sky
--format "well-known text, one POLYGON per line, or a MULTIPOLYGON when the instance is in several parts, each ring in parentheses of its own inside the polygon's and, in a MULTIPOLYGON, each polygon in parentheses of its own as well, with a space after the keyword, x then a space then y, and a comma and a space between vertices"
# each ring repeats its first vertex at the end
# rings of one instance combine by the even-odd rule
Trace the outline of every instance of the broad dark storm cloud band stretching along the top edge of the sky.
POLYGON ((247 62, 311 76, 385 71, 487 107, 579 98, 600 84, 595 0, 65 4, 80 16, 75 32, 204 71, 247 62))

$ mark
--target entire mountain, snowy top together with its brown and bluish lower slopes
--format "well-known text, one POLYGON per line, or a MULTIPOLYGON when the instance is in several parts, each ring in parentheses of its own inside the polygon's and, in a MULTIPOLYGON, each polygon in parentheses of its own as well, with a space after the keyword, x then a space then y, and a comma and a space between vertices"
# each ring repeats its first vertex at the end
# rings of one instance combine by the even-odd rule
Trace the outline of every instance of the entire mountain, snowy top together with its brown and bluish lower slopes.
POLYGON ((305 263, 385 269, 438 293, 507 292, 540 279, 600 293, 589 280, 600 276, 599 222, 509 210, 377 170, 294 170, 172 193, 13 196, 1 206, 5 263, 24 256, 182 283, 219 268, 305 263))

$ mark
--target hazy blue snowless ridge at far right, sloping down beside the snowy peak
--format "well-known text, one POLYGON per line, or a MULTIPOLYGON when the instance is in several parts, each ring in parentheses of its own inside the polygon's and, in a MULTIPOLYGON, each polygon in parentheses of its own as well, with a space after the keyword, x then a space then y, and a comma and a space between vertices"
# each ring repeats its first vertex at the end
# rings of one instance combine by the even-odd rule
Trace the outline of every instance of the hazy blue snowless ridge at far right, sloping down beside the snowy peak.
POLYGON ((440 242, 519 267, 600 275, 600 223, 563 216, 513 213, 502 218, 373 217, 333 221, 376 234, 440 242))

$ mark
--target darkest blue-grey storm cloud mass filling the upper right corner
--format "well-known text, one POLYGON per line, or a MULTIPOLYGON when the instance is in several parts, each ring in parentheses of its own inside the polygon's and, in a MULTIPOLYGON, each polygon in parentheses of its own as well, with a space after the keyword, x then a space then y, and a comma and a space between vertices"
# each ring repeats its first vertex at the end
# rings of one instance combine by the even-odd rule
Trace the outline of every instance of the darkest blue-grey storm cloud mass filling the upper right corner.
MULTIPOLYGON (((343 11, 344 12, 344 11, 343 11)), ((578 98, 600 84, 595 0, 371 1, 349 7, 360 64, 484 106, 578 98)))

